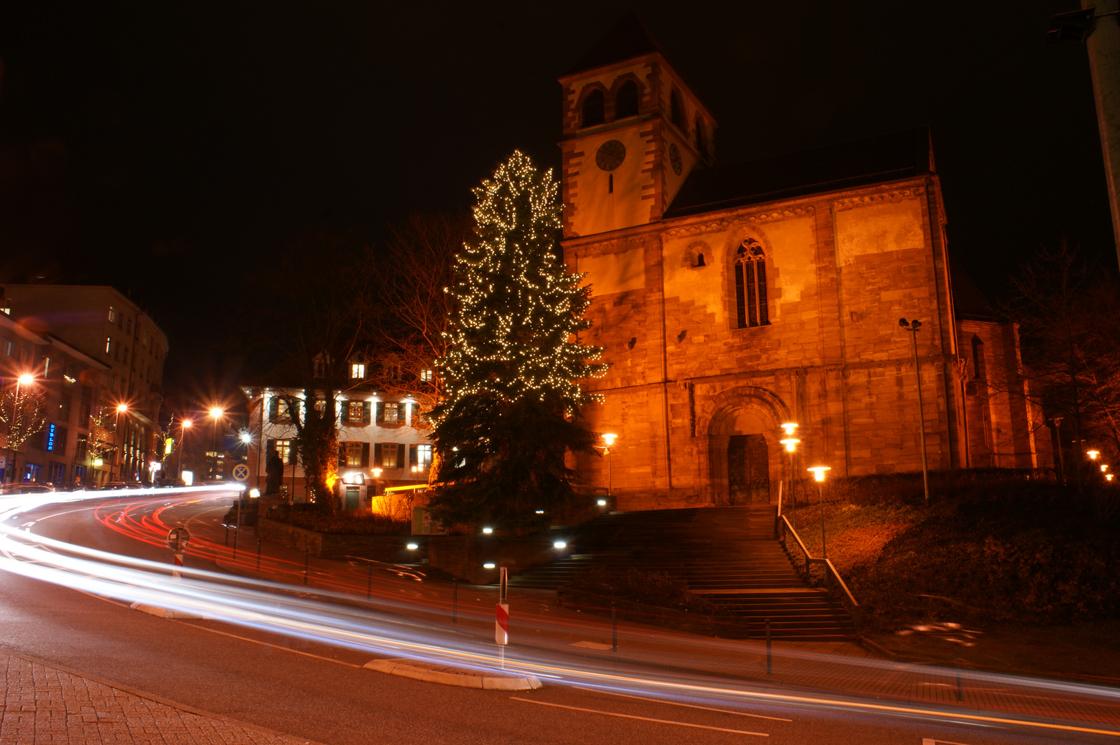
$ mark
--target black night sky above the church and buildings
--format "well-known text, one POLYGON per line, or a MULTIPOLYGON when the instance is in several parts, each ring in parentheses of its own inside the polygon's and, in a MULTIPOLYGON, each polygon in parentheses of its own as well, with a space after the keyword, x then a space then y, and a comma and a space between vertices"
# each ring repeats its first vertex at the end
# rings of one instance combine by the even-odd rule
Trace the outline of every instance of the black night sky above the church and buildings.
POLYGON ((1063 234, 1114 272, 1085 50, 1044 40, 1076 1, 979 4, 3 3, 0 282, 114 285, 167 332, 172 393, 220 385, 234 299, 293 236, 375 244, 515 148, 559 165, 556 77, 631 8, 719 162, 928 123, 986 292, 1063 234))

